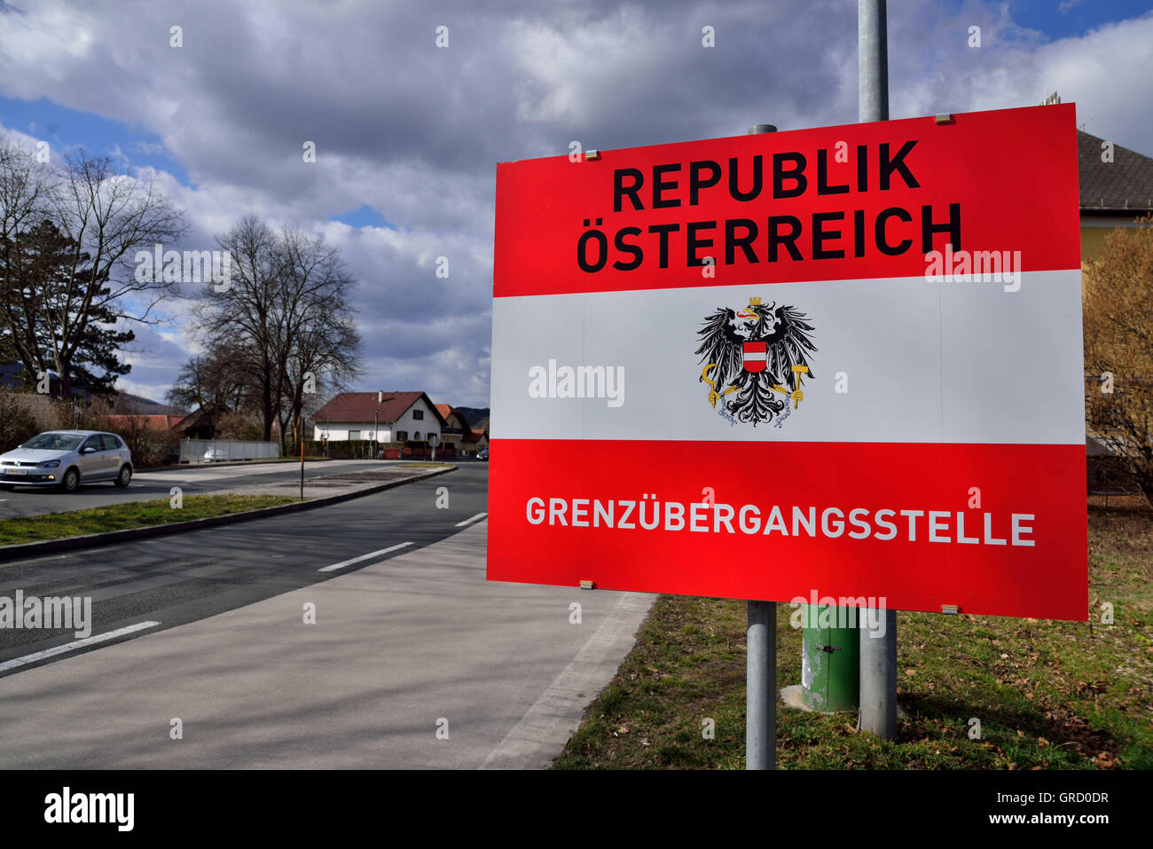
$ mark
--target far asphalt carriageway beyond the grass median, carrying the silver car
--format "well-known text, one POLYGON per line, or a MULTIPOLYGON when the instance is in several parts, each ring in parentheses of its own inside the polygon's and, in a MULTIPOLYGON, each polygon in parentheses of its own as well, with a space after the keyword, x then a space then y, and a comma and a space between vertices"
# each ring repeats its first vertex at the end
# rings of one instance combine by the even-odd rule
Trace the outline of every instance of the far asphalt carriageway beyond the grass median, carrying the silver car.
MULTIPOLYGON (((326 478, 348 472, 363 472, 387 464, 387 460, 324 460, 304 464, 304 480, 326 478)), ((470 465, 465 461, 464 465, 470 465)), ((59 493, 37 487, 17 487, 0 490, 0 519, 21 516, 42 516, 70 510, 88 510, 107 504, 155 501, 167 498, 172 487, 180 487, 184 495, 214 493, 236 487, 300 480, 300 465, 293 463, 254 463, 242 466, 172 466, 171 468, 138 472, 128 489, 116 489, 112 483, 81 486, 75 493, 59 493)), ((287 493, 281 493, 287 494, 287 493)))

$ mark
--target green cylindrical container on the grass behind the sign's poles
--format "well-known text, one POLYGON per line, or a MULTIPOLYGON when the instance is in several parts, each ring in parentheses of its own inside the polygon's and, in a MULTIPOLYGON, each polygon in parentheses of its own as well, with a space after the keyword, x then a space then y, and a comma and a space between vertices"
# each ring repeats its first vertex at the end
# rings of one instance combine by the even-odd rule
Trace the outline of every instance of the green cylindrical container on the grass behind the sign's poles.
POLYGON ((820 713, 856 711, 860 705, 860 630, 835 626, 849 621, 847 611, 842 608, 827 604, 801 608, 805 623, 801 701, 820 713))

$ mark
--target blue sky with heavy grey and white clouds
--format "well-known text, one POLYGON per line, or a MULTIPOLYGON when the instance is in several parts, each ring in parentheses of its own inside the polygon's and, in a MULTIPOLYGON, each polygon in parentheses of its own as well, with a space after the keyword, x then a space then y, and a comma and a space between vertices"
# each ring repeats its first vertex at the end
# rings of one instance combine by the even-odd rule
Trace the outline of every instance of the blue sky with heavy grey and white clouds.
MULTIPOLYGON (((891 2, 890 117, 1057 91, 1153 156, 1151 8, 891 2)), ((455 405, 489 403, 496 163, 857 114, 854 0, 0 0, 0 133, 155 170, 186 211, 178 247, 247 212, 323 233, 359 281, 353 389, 455 405)), ((168 306, 121 381, 157 400, 194 351, 188 305, 168 306)))

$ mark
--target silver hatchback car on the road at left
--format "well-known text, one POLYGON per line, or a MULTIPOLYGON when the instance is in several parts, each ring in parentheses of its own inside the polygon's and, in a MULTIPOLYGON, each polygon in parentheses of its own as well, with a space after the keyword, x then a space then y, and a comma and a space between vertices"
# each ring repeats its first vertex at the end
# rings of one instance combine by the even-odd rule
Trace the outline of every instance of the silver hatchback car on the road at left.
POLYGON ((0 489, 58 487, 113 481, 123 489, 133 479, 133 454, 125 441, 99 430, 50 430, 0 454, 0 489))

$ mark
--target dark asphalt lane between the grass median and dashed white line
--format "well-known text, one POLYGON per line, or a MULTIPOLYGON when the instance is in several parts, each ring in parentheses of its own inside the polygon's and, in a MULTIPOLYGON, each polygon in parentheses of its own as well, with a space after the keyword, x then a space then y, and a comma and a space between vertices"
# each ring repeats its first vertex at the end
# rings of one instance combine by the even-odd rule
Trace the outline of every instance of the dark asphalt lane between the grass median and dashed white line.
MULTIPOLYGON (((236 479, 228 483, 234 486, 236 479)), ((16 589, 25 598, 91 596, 93 634, 142 621, 173 628, 361 565, 318 571, 341 561, 402 542, 412 543, 405 551, 428 546, 487 510, 488 466, 476 464, 302 513, 0 563, 0 596, 15 598, 16 589), (449 489, 444 510, 436 508, 439 487, 449 489)), ((35 666, 3 670, 6 661, 74 639, 71 631, 0 628, 0 677, 35 666)))

